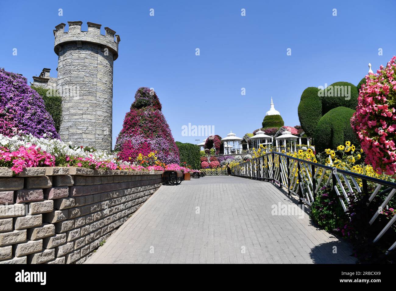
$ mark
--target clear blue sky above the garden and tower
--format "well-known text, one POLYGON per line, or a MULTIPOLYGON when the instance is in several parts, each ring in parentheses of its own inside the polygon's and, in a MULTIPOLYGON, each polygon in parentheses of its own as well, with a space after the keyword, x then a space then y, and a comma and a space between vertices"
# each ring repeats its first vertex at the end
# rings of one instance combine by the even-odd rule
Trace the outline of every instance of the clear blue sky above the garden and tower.
POLYGON ((242 137, 261 126, 271 96, 285 125, 295 126, 306 87, 356 85, 369 62, 375 71, 396 54, 394 0, 89 2, 2 1, 0 67, 30 82, 44 67, 55 77, 55 25, 83 21, 86 30, 91 21, 103 34, 104 27, 115 30, 121 42, 113 145, 141 86, 154 87, 175 140, 196 143, 204 137, 182 137, 183 125, 214 125, 222 137, 230 129, 242 137))

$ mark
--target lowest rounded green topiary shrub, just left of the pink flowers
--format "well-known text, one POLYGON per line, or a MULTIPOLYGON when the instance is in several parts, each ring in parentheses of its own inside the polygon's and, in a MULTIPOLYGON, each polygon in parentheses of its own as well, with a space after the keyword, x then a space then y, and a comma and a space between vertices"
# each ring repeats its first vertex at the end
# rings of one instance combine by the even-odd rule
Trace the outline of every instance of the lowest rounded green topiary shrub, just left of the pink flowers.
POLYGON ((346 107, 331 109, 316 126, 314 140, 316 152, 323 152, 326 148, 337 148, 345 145, 345 141, 350 141, 354 145, 359 145, 355 133, 350 126, 350 118, 355 110, 346 107))

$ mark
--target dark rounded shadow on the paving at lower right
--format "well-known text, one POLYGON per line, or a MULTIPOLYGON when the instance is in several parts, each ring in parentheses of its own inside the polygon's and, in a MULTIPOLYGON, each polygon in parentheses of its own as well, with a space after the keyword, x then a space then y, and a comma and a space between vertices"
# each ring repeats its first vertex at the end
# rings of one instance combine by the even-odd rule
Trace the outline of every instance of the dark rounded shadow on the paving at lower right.
POLYGON ((321 243, 309 253, 315 264, 355 264, 357 259, 352 254, 352 246, 342 241, 321 243))

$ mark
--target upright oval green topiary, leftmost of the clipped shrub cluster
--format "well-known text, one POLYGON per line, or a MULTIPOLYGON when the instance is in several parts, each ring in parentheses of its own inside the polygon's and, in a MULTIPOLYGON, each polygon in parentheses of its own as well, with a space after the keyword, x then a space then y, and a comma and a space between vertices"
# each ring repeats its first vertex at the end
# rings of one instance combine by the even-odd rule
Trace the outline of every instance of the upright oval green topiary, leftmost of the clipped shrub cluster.
POLYGON ((318 95, 319 91, 317 87, 305 89, 298 106, 301 127, 309 137, 314 136, 316 125, 322 117, 322 100, 318 95))

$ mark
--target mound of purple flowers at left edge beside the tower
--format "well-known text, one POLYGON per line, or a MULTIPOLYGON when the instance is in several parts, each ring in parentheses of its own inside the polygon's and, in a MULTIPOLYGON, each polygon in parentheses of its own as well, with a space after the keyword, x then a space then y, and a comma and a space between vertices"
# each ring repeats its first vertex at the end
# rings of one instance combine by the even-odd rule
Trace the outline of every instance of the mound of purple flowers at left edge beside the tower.
POLYGON ((0 68, 0 133, 13 136, 20 131, 59 139, 42 97, 25 77, 0 68))

